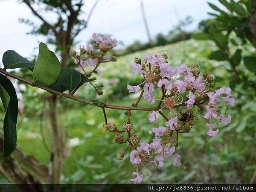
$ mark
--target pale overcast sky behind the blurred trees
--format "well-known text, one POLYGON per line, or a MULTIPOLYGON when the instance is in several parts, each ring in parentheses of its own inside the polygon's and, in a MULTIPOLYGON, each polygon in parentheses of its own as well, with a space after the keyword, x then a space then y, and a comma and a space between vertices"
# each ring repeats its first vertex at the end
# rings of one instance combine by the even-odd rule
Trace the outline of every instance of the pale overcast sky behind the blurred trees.
MULTIPOLYGON (((209 18, 211 12, 207 1, 220 5, 218 0, 143 0, 145 15, 152 37, 158 33, 167 34, 179 19, 191 16, 195 21, 189 26, 196 29, 198 22, 209 18), (177 14, 175 13, 177 10, 177 14)), ((84 0, 84 20, 95 0, 84 0)), ((38 7, 36 7, 38 9, 38 7)), ((39 7, 40 9, 40 7, 39 7)), ((54 18, 49 13, 42 13, 51 23, 54 18)), ((19 22, 19 18, 40 23, 24 3, 17 0, 0 0, 0 63, 6 50, 12 49, 23 57, 37 55, 39 42, 45 42, 44 36, 26 35, 31 26, 19 22)), ((93 32, 109 34, 125 45, 135 40, 147 41, 140 0, 100 0, 94 9, 88 26, 76 38, 79 44, 86 44, 93 32)), ((49 46, 54 50, 54 47, 49 46)))

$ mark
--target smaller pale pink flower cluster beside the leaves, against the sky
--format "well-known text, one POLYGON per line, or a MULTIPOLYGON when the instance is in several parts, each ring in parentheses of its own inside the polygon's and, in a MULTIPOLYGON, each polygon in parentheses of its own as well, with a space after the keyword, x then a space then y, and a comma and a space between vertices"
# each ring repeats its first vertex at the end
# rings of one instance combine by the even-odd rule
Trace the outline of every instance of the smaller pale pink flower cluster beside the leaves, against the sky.
MULTIPOLYGON (((75 58, 76 63, 79 65, 76 67, 76 70, 80 73, 84 73, 85 76, 90 77, 93 73, 96 76, 101 74, 99 70, 99 64, 106 63, 109 61, 116 61, 116 57, 112 56, 109 58, 105 56, 106 52, 113 47, 117 46, 117 40, 111 39, 108 35, 92 35, 92 44, 87 44, 87 46, 80 46, 79 54, 70 49, 70 54, 75 58)), ((88 83, 84 83, 87 85, 88 83)), ((102 91, 99 91, 97 88, 102 87, 102 85, 93 86, 96 89, 96 92, 101 95, 102 91)))

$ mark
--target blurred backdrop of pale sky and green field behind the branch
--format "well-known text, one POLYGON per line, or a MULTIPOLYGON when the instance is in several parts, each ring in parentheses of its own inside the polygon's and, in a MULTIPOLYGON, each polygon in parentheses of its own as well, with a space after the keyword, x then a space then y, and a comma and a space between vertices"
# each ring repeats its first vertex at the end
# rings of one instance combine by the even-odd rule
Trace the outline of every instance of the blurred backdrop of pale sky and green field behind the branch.
MULTIPOLYGON (((208 2, 230 14, 230 10, 218 0, 208 2)), ((234 11, 231 14, 233 16, 227 18, 239 18, 237 23, 240 23, 237 25, 246 25, 241 27, 240 32, 246 34, 250 20, 248 2, 251 3, 250 0, 241 0, 239 4, 248 12, 247 15, 234 11)), ((94 0, 84 1, 81 17, 87 18, 94 3, 94 0)), ((35 7, 41 9, 40 5, 35 7)), ((152 163, 143 172, 143 182, 249 183, 256 169, 256 90, 253 88, 256 80, 255 68, 248 68, 240 58, 236 65, 239 73, 234 73, 230 67, 230 59, 223 58, 223 55, 212 56, 212 52, 219 50, 218 44, 211 38, 207 39, 208 36, 195 34, 207 32, 207 29, 218 29, 218 32, 227 35, 227 52, 231 55, 230 58, 237 49, 242 50, 242 58, 255 56, 256 49, 250 37, 237 32, 237 26, 236 30, 227 34, 228 29, 223 29, 223 23, 218 23, 220 21, 214 15, 224 13, 213 10, 205 0, 144 0, 143 9, 150 34, 148 36, 141 8, 140 0, 100 0, 97 3, 87 28, 76 37, 72 47, 77 49, 79 45, 85 45, 93 32, 111 35, 119 41, 119 45, 110 53, 117 56, 117 61, 100 66, 102 74, 97 77, 97 83, 104 85, 103 96, 97 96, 90 86, 80 88, 76 95, 86 99, 107 99, 108 103, 115 105, 131 105, 136 102, 138 95, 128 94, 126 84, 136 84, 141 78, 131 73, 130 66, 134 57, 143 58, 145 53, 161 54, 163 50, 167 50, 170 64, 186 63, 192 67, 197 62, 201 74, 208 72, 215 78, 216 88, 233 88, 236 105, 234 108, 225 106, 222 111, 232 115, 232 122, 227 126, 218 125, 219 134, 209 137, 206 134, 206 121, 199 115, 192 130, 179 137, 177 153, 181 156, 181 166, 174 167, 172 160, 167 160, 163 169, 156 169, 152 163), (214 14, 209 15, 207 12, 214 14)), ((43 15, 49 22, 56 20, 49 12, 43 15)), ((17 3, 15 0, 0 1, 0 58, 6 50, 13 49, 23 57, 34 60, 38 54, 39 42, 47 43, 47 35, 26 34, 32 29, 31 25, 26 24, 26 19, 35 25, 41 23, 24 3, 17 3), (23 22, 20 22, 22 19, 23 22)), ((49 44, 49 48, 55 50, 56 46, 49 44)), ((58 55, 58 50, 56 51, 58 55)), ((73 63, 70 58, 68 64, 72 66, 73 63)), ((27 78, 31 76, 29 72, 22 70, 14 73, 27 78)), ((49 93, 22 83, 19 86, 24 113, 18 117, 17 145, 26 154, 33 155, 48 166, 52 133, 49 105, 45 98, 49 93)), ((147 104, 142 101, 140 105, 147 104)), ((123 151, 125 146, 114 143, 115 134, 103 130, 102 110, 59 98, 58 111, 59 123, 67 144, 61 183, 130 183, 129 179, 135 168, 129 162, 128 154, 121 161, 116 158, 116 153, 123 151)), ((109 122, 115 122, 117 126, 122 126, 127 120, 124 111, 106 109, 106 112, 109 122)), ((147 112, 141 111, 134 111, 132 116, 133 122, 140 122, 137 135, 143 141, 152 139, 148 134, 152 124, 148 122, 147 116, 147 112)), ((0 117, 2 127, 2 106, 0 117)), ((157 121, 157 125, 164 125, 160 116, 157 116, 157 121)), ((8 183, 8 180, 2 176, 0 183, 8 183)))

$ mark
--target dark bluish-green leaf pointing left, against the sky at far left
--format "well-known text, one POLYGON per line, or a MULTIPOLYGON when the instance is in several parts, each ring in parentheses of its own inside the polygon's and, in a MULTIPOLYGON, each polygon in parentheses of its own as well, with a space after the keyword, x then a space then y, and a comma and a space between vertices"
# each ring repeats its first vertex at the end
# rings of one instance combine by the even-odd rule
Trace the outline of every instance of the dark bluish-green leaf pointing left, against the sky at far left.
POLYGON ((20 56, 13 50, 8 50, 3 54, 3 66, 6 69, 34 68, 34 63, 20 56))

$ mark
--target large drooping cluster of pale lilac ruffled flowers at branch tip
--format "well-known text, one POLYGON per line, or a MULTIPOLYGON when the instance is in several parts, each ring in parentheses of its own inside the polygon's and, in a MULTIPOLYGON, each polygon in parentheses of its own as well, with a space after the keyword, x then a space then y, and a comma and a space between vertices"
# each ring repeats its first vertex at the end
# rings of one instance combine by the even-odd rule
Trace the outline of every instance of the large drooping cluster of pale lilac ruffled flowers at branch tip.
MULTIPOLYGON (((199 67, 199 65, 198 65, 199 67)), ((131 64, 132 73, 140 73, 144 77, 144 81, 137 85, 127 85, 129 92, 138 93, 140 87, 143 86, 143 99, 146 99, 150 105, 156 100, 159 101, 156 110, 148 114, 148 120, 151 123, 156 123, 156 116, 160 113, 167 121, 166 127, 152 128, 149 133, 154 133, 155 137, 151 144, 140 143, 140 146, 131 151, 130 161, 134 165, 146 161, 153 161, 158 168, 162 168, 166 157, 174 158, 174 166, 180 165, 180 156, 175 154, 175 142, 172 143, 172 134, 176 131, 176 137, 179 133, 189 132, 194 125, 195 110, 204 108, 206 113, 205 119, 209 119, 206 126, 209 127, 207 134, 211 137, 218 134, 219 130, 214 131, 216 121, 227 125, 231 121, 231 115, 222 115, 218 112, 221 106, 234 106, 235 99, 232 97, 229 87, 221 87, 214 89, 212 83, 213 77, 204 73, 199 76, 199 68, 189 68, 186 64, 181 64, 178 67, 168 64, 167 52, 162 55, 145 54, 144 60, 141 61, 135 58, 131 64), (162 91, 162 97, 157 99, 154 96, 156 89, 162 91), (184 97, 186 96, 186 97, 184 97), (221 98, 222 97, 222 98, 221 98), (186 106, 186 108, 181 108, 186 106), (162 111, 169 109, 170 117, 167 117, 162 111), (215 122, 214 122, 215 121, 215 122), (163 141, 162 136, 169 137, 163 141), (155 155, 154 160, 148 159, 152 154, 155 155)), ((138 166, 137 166, 138 167, 138 166)), ((134 183, 140 183, 143 175, 137 171, 133 173, 136 178, 131 179, 134 183)))

